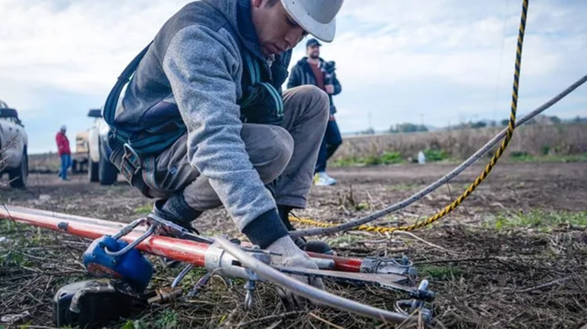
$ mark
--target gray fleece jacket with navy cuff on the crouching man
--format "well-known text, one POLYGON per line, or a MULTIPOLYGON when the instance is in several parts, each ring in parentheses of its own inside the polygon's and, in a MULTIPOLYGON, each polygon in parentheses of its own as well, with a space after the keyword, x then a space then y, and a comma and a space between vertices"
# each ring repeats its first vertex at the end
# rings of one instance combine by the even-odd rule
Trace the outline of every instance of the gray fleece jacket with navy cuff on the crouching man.
POLYGON ((266 246, 287 231, 240 137, 247 111, 239 104, 246 98, 249 112, 259 109, 251 115, 254 122, 279 124, 281 84, 290 59, 291 51, 268 66, 252 27, 249 0, 192 2, 155 37, 111 126, 137 140, 170 136, 166 140, 173 142, 187 132, 191 165, 210 179, 238 228, 266 246))

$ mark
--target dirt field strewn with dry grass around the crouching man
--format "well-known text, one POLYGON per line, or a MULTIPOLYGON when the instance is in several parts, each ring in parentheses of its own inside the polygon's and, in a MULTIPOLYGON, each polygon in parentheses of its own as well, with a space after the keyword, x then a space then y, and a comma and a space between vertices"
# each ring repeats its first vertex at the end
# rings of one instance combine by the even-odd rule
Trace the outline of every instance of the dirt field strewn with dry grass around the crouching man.
MULTIPOLYGON (((339 168, 336 187, 315 187, 300 217, 344 222, 395 203, 447 173, 450 165, 339 168)), ((474 166, 431 196, 377 225, 400 225, 432 215, 481 171, 474 166)), ((62 183, 52 174, 32 174, 28 190, 0 190, 11 205, 107 220, 130 221, 149 211, 149 201, 123 181, 87 184, 86 176, 62 183)), ((587 163, 502 163, 446 220, 409 235, 349 232, 323 237, 339 255, 407 255, 437 293, 434 327, 565 327, 587 323, 587 163)), ((79 255, 87 241, 0 223, 0 317, 28 315, 16 324, 49 325, 50 299, 59 286, 85 278, 79 255), (26 239, 18 237, 25 236, 26 239), (43 246, 43 248, 40 248, 43 246), (63 246, 70 246, 69 252, 63 246), (8 256, 6 256, 8 255, 8 256), (12 256, 11 256, 12 255, 12 256), (16 257, 15 255, 18 255, 16 257), (12 258, 11 258, 12 257, 12 258), (16 287, 16 289, 15 289, 16 287)), ((237 232, 224 210, 194 223, 203 234, 237 232)), ((156 267, 154 285, 169 285, 177 270, 156 267), (175 272, 174 272, 175 271, 175 272)), ((197 277, 188 277, 187 285, 197 277)), ((393 293, 338 287, 330 290, 393 309, 393 293)), ((242 284, 229 292, 215 283, 192 300, 140 314, 125 328, 149 327, 392 327, 325 307, 284 309, 271 287, 262 304, 245 312, 242 284)), ((120 328, 125 321, 113 328, 120 328)), ((32 328, 32 327, 31 327, 32 328)))

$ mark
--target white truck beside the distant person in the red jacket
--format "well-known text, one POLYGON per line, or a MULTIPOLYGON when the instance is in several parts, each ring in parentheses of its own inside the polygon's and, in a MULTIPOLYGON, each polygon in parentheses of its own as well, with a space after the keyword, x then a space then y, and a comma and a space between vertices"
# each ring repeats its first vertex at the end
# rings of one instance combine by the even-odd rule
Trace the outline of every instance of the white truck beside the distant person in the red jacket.
POLYGON ((110 127, 102 118, 101 109, 90 109, 87 116, 94 118, 92 128, 87 133, 88 179, 90 182, 112 185, 118 177, 118 169, 109 160, 111 151, 106 140, 110 127))

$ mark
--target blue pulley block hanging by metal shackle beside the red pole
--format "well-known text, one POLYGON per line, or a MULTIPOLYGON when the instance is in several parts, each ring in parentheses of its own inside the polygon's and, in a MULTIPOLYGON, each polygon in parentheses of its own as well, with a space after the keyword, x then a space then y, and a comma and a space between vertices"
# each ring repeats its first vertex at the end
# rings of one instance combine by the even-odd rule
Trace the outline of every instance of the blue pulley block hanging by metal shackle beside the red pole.
POLYGON ((127 242, 115 240, 109 235, 95 239, 83 253, 83 265, 92 276, 123 280, 137 293, 142 293, 153 276, 153 265, 149 259, 134 248, 120 256, 106 252, 106 248, 116 252, 127 245, 127 242))

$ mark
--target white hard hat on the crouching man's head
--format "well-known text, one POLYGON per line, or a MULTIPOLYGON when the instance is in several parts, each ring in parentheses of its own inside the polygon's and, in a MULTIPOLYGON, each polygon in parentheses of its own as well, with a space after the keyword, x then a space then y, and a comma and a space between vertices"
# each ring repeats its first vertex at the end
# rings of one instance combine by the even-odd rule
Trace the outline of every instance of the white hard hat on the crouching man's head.
POLYGON ((345 0, 281 0, 285 10, 308 33, 331 42, 336 34, 336 14, 345 0))

